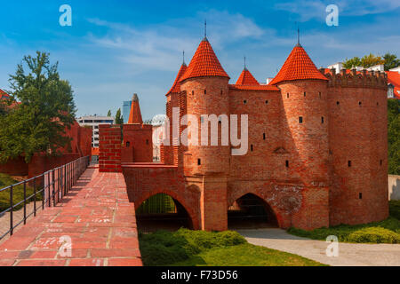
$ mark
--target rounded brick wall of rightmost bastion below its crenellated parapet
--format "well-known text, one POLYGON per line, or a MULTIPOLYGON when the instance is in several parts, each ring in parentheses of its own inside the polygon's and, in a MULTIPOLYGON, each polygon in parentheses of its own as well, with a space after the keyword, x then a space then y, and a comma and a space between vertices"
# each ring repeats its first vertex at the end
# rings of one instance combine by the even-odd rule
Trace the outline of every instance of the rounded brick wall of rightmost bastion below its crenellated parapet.
POLYGON ((388 217, 387 91, 335 85, 329 89, 329 109, 330 223, 380 221, 388 217))

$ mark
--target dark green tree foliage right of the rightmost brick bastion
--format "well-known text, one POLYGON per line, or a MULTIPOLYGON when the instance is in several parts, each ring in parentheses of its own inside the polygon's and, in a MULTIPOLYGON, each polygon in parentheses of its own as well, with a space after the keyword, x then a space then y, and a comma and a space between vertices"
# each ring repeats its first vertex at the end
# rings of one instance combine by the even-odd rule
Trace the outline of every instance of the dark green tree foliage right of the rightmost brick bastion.
POLYGON ((399 99, 388 99, 388 173, 400 175, 399 99))

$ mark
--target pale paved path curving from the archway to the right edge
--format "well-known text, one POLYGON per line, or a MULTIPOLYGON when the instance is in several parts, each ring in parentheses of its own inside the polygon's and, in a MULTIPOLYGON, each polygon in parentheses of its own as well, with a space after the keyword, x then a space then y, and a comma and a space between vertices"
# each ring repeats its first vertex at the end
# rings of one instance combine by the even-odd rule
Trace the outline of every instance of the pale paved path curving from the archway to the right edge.
POLYGON ((339 256, 326 256, 329 243, 293 236, 282 229, 237 230, 254 245, 274 248, 333 266, 400 266, 400 244, 339 243, 339 256))

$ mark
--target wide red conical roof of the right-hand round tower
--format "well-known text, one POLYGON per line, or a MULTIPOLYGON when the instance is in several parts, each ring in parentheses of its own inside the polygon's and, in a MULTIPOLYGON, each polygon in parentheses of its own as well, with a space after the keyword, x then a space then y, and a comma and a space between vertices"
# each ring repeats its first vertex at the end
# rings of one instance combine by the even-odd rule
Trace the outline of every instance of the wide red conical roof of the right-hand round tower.
POLYGON ((284 66, 269 84, 307 79, 328 81, 316 68, 304 48, 300 44, 297 44, 284 62, 284 66))

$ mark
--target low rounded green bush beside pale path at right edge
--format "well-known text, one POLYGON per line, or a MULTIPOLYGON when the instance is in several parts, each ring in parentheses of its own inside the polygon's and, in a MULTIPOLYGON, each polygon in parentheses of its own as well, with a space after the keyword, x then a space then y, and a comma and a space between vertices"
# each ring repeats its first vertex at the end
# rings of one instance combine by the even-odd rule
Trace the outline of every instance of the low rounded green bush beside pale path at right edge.
POLYGON ((370 227, 348 235, 350 242, 400 243, 400 234, 381 227, 370 227))

